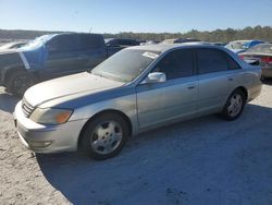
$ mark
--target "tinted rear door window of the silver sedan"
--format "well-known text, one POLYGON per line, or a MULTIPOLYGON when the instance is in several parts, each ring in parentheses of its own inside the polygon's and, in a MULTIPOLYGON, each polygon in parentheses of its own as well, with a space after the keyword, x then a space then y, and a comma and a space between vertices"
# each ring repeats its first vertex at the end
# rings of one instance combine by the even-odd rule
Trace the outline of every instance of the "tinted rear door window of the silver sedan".
POLYGON ((212 73, 227 70, 227 61, 222 51, 215 49, 198 49, 198 73, 212 73))

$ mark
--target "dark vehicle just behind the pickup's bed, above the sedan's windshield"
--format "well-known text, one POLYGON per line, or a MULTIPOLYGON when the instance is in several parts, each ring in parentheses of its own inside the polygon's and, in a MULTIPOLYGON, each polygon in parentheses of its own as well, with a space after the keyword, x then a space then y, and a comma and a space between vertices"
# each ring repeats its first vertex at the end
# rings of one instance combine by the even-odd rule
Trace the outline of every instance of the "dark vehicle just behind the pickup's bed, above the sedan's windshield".
POLYGON ((106 43, 106 46, 111 51, 111 53, 109 53, 110 56, 129 46, 139 45, 139 43, 135 39, 124 39, 124 38, 106 38, 104 43, 106 43))

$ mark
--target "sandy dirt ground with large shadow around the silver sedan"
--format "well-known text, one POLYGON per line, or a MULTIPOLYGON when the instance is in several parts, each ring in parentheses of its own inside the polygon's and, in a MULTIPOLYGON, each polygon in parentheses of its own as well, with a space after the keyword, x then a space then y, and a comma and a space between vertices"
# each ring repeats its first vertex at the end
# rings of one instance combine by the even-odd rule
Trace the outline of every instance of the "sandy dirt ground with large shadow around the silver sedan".
POLYGON ((1 204, 272 204, 272 82, 237 121, 217 116, 129 140, 118 157, 35 155, 0 87, 1 204))

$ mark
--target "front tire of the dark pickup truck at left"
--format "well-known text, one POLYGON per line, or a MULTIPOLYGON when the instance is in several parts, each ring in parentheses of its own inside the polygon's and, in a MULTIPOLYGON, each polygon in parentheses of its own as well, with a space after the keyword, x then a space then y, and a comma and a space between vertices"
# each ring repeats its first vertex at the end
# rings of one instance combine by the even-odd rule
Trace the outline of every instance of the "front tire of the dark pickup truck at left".
POLYGON ((22 97, 32 83, 25 71, 14 71, 7 80, 7 89, 15 96, 22 97))

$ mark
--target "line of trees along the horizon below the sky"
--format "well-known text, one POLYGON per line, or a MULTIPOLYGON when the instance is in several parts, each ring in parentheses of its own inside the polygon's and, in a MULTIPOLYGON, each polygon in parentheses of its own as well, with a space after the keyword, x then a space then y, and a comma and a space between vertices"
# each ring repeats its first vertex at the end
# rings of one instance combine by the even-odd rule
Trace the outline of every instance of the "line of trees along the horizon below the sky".
MULTIPOLYGON (((33 39, 44 34, 61 32, 46 31, 8 31, 0 29, 0 39, 33 39)), ((138 40, 158 40, 168 38, 195 38, 202 41, 222 41, 228 43, 237 39, 261 39, 272 41, 272 26, 248 26, 244 29, 215 29, 212 32, 199 32, 191 29, 187 33, 133 33, 122 32, 119 34, 103 34, 104 38, 132 38, 138 40)))

